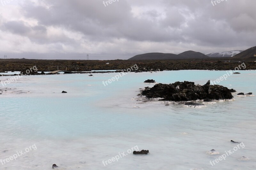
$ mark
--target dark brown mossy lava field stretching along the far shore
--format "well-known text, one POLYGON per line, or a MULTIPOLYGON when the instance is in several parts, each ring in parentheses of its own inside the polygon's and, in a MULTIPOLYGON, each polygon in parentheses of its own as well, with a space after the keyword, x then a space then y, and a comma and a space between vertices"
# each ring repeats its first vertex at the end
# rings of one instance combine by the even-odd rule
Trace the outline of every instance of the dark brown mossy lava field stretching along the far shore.
MULTIPOLYGON (((0 68, 5 71, 22 71, 36 66, 38 71, 55 71, 57 66, 68 71, 92 70, 126 70, 137 64, 137 72, 163 70, 234 70, 239 60, 230 58, 209 58, 207 60, 33 60, 33 59, 0 59, 0 68), (225 61, 227 60, 227 61, 225 61), (233 60, 233 59, 232 59, 233 60)), ((241 61, 244 62, 244 61, 241 61)), ((256 63, 245 61, 246 68, 242 70, 256 70, 256 63)))

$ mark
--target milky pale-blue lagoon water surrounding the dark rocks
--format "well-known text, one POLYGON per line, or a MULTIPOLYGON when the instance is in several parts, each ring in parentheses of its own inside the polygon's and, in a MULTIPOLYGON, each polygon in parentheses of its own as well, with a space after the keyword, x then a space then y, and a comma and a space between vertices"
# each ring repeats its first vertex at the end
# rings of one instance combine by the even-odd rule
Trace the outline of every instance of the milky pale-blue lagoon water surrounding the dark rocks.
MULTIPOLYGON (((239 71, 219 84, 256 94, 256 71, 239 71)), ((219 101, 206 107, 137 101, 139 88, 158 83, 193 81, 204 85, 226 71, 180 70, 129 73, 104 86, 116 73, 24 76, 0 87, 0 159, 36 145, 0 169, 256 169, 255 96, 219 101), (7 88, 7 89, 6 89, 7 88), (68 93, 61 93, 66 91, 68 93), (185 133, 183 133, 185 132, 185 133), (238 149, 216 165, 225 151, 238 149), (127 154, 104 166, 119 153, 138 146, 148 155, 127 154), (206 152, 215 149, 220 155, 206 152), (242 156, 249 161, 239 161, 242 156)), ((11 77, 0 77, 5 80, 11 77)))

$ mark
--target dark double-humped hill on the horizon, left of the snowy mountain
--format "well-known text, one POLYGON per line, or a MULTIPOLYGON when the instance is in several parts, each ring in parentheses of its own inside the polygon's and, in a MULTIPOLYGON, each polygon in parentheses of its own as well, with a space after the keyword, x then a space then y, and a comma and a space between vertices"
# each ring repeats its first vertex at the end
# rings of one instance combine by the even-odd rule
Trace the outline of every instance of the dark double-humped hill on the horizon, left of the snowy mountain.
POLYGON ((181 54, 171 54, 171 53, 146 53, 135 55, 128 60, 168 60, 168 59, 200 59, 200 58, 209 58, 209 56, 204 55, 203 53, 195 51, 185 51, 181 54))

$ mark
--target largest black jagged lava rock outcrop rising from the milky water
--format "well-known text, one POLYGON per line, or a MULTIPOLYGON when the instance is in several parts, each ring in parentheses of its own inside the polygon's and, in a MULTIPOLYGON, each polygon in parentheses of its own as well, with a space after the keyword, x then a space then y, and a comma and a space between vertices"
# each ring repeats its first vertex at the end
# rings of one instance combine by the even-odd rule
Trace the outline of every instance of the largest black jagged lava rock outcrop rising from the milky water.
POLYGON ((221 85, 195 85, 194 82, 175 82, 173 84, 156 84, 145 88, 141 93, 147 98, 163 98, 169 101, 191 100, 229 100, 233 99, 231 91, 221 85))

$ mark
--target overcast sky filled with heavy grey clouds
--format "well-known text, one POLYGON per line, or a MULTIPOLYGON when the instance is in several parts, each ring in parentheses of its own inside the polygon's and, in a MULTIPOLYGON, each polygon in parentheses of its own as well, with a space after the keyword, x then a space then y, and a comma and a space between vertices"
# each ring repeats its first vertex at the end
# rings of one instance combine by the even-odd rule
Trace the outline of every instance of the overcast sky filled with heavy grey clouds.
POLYGON ((0 0, 0 58, 116 60, 256 46, 255 0, 114 1, 0 0))

